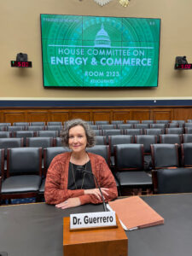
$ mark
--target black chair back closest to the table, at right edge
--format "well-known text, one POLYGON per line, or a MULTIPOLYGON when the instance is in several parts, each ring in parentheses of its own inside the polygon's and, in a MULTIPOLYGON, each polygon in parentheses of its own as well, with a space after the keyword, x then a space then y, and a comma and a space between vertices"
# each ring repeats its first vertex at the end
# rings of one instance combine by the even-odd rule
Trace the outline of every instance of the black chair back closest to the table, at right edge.
POLYGON ((191 193, 192 169, 160 169, 152 171, 155 194, 191 193))

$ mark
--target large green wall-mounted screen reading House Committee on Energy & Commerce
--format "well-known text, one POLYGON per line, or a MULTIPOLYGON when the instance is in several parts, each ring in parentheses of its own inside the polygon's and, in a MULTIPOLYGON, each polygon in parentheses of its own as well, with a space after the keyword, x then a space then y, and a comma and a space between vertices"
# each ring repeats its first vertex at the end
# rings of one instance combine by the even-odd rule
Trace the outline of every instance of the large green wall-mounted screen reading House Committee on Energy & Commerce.
POLYGON ((156 87, 160 19, 41 15, 44 87, 156 87))

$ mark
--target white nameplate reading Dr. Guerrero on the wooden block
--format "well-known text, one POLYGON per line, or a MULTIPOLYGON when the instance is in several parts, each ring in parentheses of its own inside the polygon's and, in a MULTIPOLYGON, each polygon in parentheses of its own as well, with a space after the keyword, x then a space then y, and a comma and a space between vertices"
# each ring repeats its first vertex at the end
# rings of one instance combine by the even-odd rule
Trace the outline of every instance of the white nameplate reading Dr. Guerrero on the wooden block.
POLYGON ((70 214, 70 230, 116 226, 115 212, 88 212, 70 214))

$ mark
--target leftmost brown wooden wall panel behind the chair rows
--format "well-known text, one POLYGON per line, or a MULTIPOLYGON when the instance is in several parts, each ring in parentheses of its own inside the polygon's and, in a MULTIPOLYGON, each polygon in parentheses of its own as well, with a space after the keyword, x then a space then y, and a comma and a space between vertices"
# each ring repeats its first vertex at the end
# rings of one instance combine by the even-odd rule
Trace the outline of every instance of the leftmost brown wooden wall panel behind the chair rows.
POLYGON ((3 122, 5 123, 15 123, 15 122, 27 122, 27 114, 24 110, 7 110, 3 112, 3 122))

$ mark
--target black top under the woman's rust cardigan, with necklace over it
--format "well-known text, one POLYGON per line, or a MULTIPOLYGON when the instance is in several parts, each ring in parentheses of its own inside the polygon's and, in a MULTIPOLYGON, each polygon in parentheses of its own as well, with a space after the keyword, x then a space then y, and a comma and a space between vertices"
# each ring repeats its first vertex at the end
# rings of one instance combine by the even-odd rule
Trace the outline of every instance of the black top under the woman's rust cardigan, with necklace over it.
POLYGON ((90 160, 84 166, 77 166, 69 163, 67 189, 96 189, 93 175, 84 173, 83 170, 92 173, 90 160), (82 172, 80 171, 82 170, 82 172))

